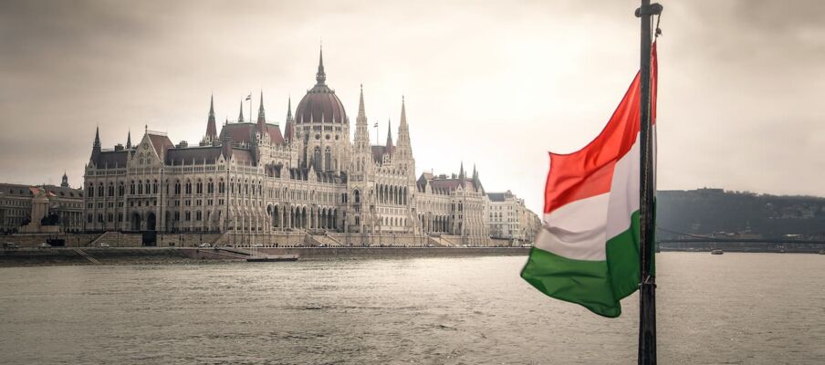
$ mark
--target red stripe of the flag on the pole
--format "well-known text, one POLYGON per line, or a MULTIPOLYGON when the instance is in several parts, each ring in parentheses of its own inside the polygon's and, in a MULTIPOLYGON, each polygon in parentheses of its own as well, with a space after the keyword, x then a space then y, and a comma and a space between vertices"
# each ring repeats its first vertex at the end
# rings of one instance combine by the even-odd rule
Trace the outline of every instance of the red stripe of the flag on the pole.
MULTIPOLYGON (((658 63, 656 44, 651 60, 651 117, 656 118, 658 63)), ((545 186, 544 213, 577 200, 609 193, 616 162, 631 150, 639 133, 640 76, 636 73, 630 88, 611 120, 593 141, 569 154, 550 152, 550 172, 545 186)))

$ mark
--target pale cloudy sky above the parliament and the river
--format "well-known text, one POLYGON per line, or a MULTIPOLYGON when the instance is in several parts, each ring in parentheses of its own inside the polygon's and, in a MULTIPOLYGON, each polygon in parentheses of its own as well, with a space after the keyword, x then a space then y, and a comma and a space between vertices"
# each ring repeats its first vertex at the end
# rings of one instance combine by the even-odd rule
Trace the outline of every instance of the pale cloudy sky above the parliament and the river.
MULTIPOLYGON (((825 195, 825 3, 662 3, 660 188, 825 195)), ((538 212, 547 151, 598 134, 638 69, 636 6, 3 0, 0 182, 79 185, 96 126, 199 141, 210 94, 235 120, 263 89, 283 122, 323 42, 352 123, 363 84, 384 141, 404 95, 419 172, 475 164, 538 212)))

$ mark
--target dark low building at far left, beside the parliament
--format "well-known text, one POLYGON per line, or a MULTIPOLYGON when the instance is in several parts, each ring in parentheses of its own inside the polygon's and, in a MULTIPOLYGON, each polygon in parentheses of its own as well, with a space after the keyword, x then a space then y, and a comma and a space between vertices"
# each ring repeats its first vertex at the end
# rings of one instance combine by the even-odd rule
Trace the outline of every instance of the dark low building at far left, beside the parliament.
POLYGON ((83 229, 83 191, 68 186, 63 174, 61 186, 0 183, 0 231, 78 232, 83 229))

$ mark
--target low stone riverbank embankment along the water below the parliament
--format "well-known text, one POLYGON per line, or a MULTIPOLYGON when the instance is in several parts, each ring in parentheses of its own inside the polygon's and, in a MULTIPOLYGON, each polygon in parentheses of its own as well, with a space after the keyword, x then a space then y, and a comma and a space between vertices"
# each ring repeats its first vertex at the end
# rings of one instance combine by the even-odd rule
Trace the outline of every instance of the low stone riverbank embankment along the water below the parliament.
MULTIPOLYGON (((238 250, 248 253, 245 250, 238 250)), ((290 247, 258 248, 257 255, 298 255, 300 260, 527 255, 526 247, 290 247)), ((214 248, 130 247, 0 250, 0 267, 210 264, 245 261, 244 255, 214 248)))

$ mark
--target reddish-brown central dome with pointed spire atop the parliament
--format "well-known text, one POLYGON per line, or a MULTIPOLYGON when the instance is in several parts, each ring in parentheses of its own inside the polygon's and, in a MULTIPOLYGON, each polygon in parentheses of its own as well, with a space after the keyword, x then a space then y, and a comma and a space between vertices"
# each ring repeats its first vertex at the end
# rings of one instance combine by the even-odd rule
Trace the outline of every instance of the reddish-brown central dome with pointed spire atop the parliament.
POLYGON ((295 122, 301 123, 346 123, 347 112, 335 90, 329 89, 326 84, 327 74, 324 73, 324 53, 321 51, 318 73, 315 75, 315 87, 307 91, 307 95, 298 103, 295 110, 295 122))

